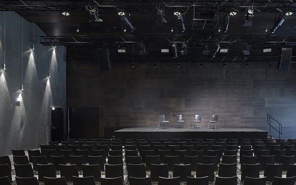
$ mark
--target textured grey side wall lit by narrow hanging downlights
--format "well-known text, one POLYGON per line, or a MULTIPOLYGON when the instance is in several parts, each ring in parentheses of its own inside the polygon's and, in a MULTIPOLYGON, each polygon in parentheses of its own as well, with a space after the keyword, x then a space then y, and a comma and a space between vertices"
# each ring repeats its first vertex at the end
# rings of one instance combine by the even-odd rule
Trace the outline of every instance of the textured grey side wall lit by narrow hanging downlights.
POLYGON ((66 48, 42 46, 44 35, 17 13, 0 12, 0 63, 6 63, 0 70, 0 155, 47 144, 50 107, 65 106, 66 48))

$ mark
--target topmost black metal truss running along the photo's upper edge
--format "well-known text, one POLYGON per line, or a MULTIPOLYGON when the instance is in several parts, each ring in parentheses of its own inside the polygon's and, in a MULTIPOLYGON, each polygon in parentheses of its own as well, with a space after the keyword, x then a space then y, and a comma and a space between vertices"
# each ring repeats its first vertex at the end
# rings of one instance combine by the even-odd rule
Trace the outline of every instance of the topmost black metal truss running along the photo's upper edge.
POLYGON ((91 4, 101 11, 166 11, 195 7, 195 10, 245 11, 253 6, 258 12, 296 10, 296 0, 1 0, 0 10, 6 11, 85 11, 91 4))

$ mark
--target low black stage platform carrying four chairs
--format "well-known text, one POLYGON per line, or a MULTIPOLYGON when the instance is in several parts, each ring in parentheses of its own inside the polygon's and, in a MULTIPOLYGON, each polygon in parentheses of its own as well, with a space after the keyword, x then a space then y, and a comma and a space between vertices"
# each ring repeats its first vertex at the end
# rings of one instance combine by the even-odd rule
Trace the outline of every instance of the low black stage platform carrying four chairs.
POLYGON ((248 127, 208 128, 160 128, 160 127, 129 127, 114 132, 115 138, 267 138, 268 131, 248 127))

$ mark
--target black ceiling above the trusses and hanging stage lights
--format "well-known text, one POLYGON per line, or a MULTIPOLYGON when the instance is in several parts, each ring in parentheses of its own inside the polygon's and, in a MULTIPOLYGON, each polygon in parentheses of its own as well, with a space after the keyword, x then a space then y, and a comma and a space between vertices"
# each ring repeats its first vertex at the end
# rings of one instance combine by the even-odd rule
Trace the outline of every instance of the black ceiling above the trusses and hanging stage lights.
MULTIPOLYGON (((41 41, 44 45, 91 44, 101 47, 105 43, 115 48, 111 53, 119 57, 116 53, 119 44, 125 45, 128 50, 124 56, 131 57, 138 53, 141 41, 153 56, 161 54, 160 47, 171 46, 175 41, 180 51, 181 42, 186 42, 191 58, 195 57, 192 55, 200 56, 206 44, 212 51, 215 44, 221 43, 222 47, 229 48, 227 55, 233 57, 241 56, 241 50, 249 43, 253 44, 251 55, 258 57, 263 56, 261 49, 264 46, 274 47, 274 53, 269 56, 277 56, 281 47, 296 45, 296 0, 10 0, 0 1, 0 10, 16 11, 36 23, 47 36, 61 36, 43 37, 41 41), (86 10, 89 4, 99 10, 103 22, 92 21, 94 16, 86 10), (243 27, 245 11, 252 5, 253 26, 243 27), (154 24, 156 6, 164 10, 168 23, 154 24), (63 11, 69 12, 70 16, 62 15, 63 11), (118 11, 130 14, 131 23, 136 28, 134 32, 120 20, 118 11), (185 13, 186 32, 181 32, 181 21, 174 16, 174 11, 185 13), (191 30, 194 13, 196 15, 201 11, 215 12, 219 18, 215 29, 191 30), (224 16, 231 11, 237 14, 230 16, 229 30, 224 33, 224 16), (275 20, 290 11, 294 14, 286 16, 283 25, 271 34, 269 30, 275 20), (174 32, 171 32, 172 29, 174 32), (266 29, 268 32, 265 32, 266 29)), ((223 57, 223 54, 219 55, 223 57)))

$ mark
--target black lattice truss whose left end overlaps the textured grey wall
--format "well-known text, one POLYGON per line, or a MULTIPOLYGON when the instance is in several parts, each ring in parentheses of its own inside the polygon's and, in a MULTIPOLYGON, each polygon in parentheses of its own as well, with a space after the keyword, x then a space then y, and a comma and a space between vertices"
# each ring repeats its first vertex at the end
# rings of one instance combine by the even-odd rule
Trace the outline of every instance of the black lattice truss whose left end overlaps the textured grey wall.
POLYGON ((189 46, 201 46, 204 44, 273 44, 273 45, 296 45, 296 36, 203 36, 180 35, 180 36, 41 36, 40 43, 43 45, 102 45, 104 44, 133 44, 145 43, 146 45, 165 45, 186 42, 189 46))

